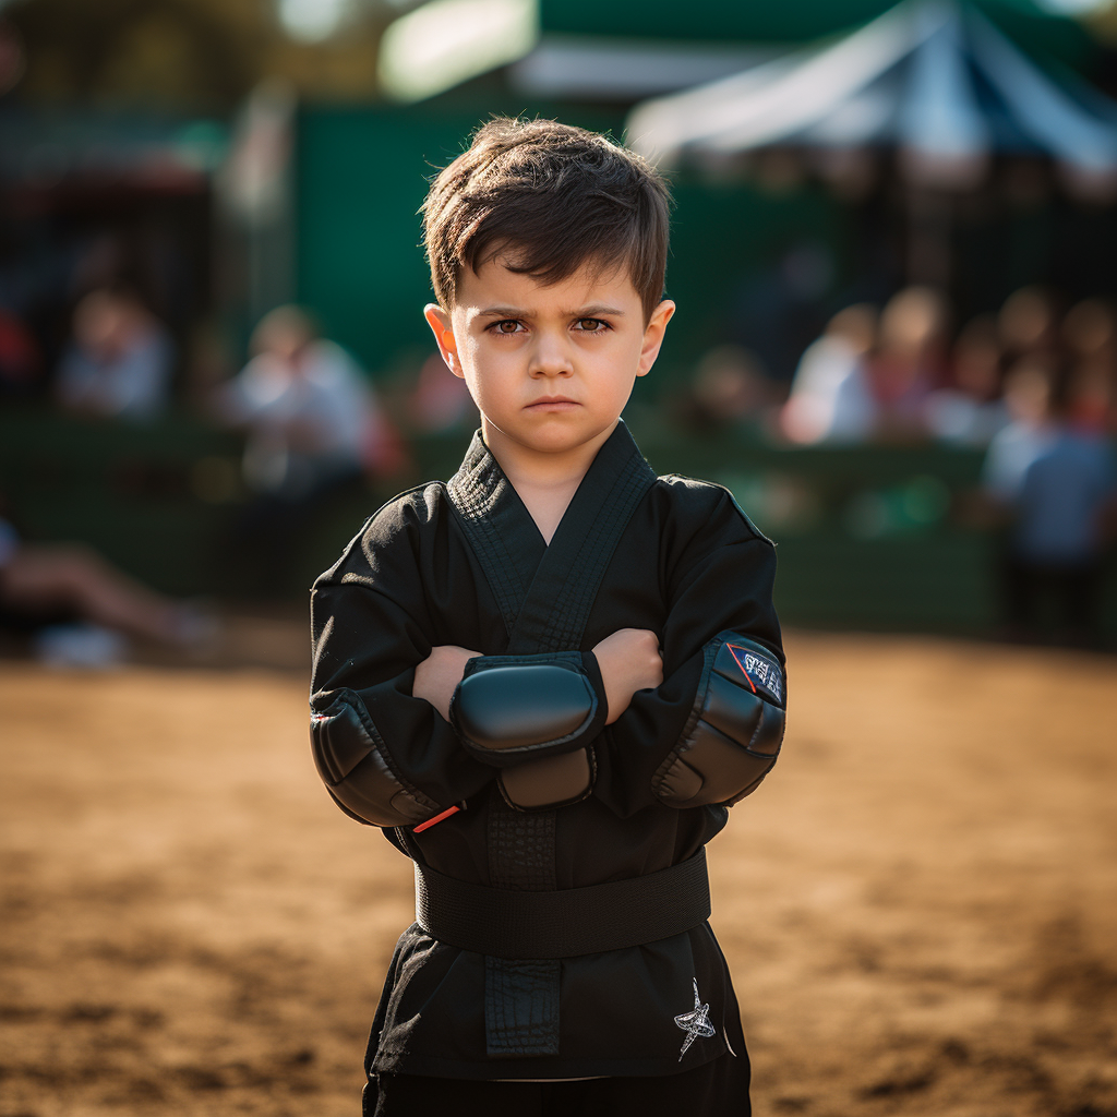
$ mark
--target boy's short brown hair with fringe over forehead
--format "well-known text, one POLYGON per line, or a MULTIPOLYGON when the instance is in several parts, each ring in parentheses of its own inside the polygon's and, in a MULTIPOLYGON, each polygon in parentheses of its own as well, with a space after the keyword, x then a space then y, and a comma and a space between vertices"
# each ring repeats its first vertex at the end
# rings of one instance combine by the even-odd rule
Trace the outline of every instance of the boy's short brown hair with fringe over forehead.
POLYGON ((670 195, 660 174, 605 136, 556 121, 498 117, 435 179, 423 241, 438 302, 455 302, 461 268, 503 248, 510 270, 550 285, 588 260, 627 267, 645 318, 663 294, 670 195))

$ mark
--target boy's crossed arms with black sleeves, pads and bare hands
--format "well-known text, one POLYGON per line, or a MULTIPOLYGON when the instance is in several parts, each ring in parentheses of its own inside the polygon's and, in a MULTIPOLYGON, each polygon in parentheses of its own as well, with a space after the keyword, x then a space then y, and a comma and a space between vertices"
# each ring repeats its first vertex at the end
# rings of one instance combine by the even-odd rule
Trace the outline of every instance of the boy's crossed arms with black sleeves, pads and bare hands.
MULTIPOLYGON (((652 803, 736 802, 775 761, 785 688, 774 553, 752 533, 732 534, 680 564, 660 637, 621 629, 591 652, 527 657, 432 646, 423 633, 438 624, 401 605, 429 596, 416 551, 378 551, 372 577, 354 548, 319 580, 313 607, 312 742, 327 790, 354 818, 389 827, 421 823, 494 777, 514 804, 544 805, 517 799, 514 785, 534 772, 546 786, 561 770, 622 817, 652 803), (560 691, 565 725, 525 726, 560 691), (489 717, 505 696, 517 699, 514 716, 489 717)), ((448 585, 443 601, 466 596, 448 585)))

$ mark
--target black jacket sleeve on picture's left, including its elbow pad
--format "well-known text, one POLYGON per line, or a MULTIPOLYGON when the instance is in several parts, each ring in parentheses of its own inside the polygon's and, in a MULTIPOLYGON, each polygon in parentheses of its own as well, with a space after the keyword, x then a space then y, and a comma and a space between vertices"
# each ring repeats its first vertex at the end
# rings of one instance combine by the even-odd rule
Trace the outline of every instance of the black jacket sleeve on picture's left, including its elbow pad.
POLYGON ((420 527, 384 531, 373 517, 311 594, 314 760, 342 810, 380 827, 423 822, 495 774, 411 694, 433 630, 416 557, 420 527))

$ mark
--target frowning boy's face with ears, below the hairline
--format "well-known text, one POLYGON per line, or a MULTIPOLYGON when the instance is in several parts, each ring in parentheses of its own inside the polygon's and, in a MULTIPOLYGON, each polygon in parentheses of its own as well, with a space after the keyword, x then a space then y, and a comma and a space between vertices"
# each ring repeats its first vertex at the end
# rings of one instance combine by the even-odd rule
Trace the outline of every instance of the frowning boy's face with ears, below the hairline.
POLYGON ((596 452, 636 378, 651 370, 674 311, 662 302, 645 323, 627 269, 599 275, 583 265, 545 287, 498 255, 476 274, 465 269, 452 309, 428 306, 427 321, 505 465, 502 450, 596 452))

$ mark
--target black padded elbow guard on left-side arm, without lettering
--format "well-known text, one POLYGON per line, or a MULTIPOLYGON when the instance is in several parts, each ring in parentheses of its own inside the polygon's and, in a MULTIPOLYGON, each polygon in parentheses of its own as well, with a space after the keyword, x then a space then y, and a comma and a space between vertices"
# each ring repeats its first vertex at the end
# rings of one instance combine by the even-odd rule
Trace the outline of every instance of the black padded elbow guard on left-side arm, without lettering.
POLYGON ((364 703, 351 691, 311 699, 311 750, 330 794, 345 811, 378 827, 411 827, 441 810, 393 771, 364 703))

